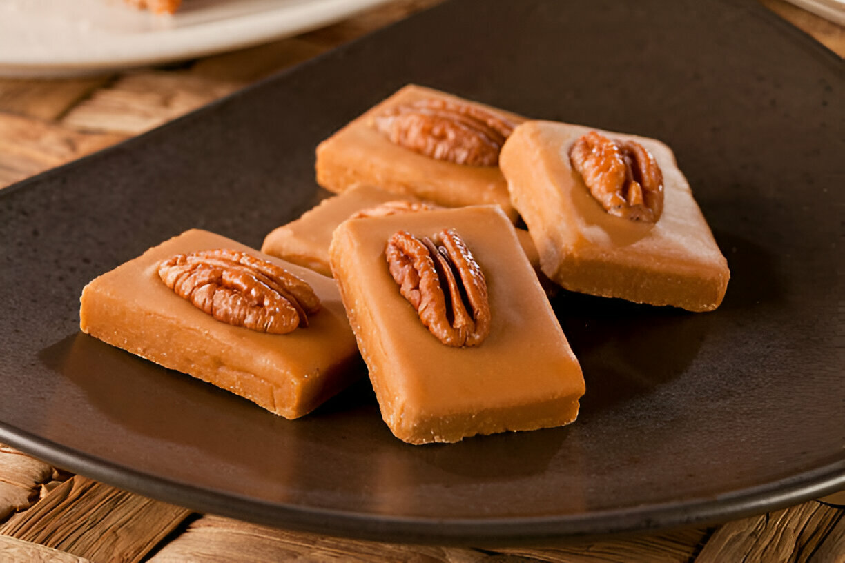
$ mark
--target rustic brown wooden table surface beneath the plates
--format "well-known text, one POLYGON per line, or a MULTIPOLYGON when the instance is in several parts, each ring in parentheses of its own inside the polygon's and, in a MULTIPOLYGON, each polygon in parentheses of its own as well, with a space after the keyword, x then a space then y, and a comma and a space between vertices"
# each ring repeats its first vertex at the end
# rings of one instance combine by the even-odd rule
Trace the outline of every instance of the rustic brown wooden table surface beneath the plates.
MULTIPOLYGON (((143 133, 441 1, 399 0, 322 30, 172 68, 62 80, 0 79, 0 187, 143 133)), ((762 2, 845 56, 842 27, 782 0, 762 2)), ((2 561, 291 559, 842 563, 845 511, 809 501, 719 526, 555 549, 381 544, 194 514, 64 473, 0 444, 2 561)))

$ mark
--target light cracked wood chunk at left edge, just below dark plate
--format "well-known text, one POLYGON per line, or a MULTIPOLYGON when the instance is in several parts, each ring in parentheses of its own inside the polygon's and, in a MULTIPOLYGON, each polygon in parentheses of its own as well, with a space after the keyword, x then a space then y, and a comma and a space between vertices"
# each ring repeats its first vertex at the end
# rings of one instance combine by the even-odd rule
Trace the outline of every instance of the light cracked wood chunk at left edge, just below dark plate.
POLYGON ((31 506, 54 473, 47 463, 0 444, 0 522, 31 506))

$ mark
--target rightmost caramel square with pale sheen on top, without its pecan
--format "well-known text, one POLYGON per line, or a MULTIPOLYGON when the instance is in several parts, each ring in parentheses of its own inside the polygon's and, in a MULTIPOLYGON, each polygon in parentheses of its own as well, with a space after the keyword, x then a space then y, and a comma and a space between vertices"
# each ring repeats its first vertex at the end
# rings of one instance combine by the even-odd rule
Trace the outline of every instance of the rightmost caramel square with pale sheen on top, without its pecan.
POLYGON ((556 122, 526 122, 505 143, 501 167, 528 225, 542 271, 567 290, 711 311, 728 287, 728 262, 671 149, 651 138, 556 122), (647 149, 662 170, 656 222, 609 214, 570 163, 570 148, 597 131, 647 149))

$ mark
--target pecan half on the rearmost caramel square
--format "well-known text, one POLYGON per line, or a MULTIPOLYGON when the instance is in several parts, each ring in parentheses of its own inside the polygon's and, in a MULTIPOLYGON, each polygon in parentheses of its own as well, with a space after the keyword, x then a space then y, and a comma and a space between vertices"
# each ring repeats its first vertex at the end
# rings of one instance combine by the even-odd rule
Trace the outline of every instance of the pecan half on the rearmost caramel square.
POLYGON ((515 124, 472 104, 428 98, 390 108, 376 127, 396 144, 457 165, 495 166, 515 124))

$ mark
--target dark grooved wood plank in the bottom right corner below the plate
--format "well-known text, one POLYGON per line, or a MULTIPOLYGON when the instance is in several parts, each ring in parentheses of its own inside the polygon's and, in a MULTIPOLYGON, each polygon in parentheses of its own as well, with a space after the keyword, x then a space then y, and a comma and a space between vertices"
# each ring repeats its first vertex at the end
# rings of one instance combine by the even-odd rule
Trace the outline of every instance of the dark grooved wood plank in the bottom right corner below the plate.
MULTIPOLYGON (((820 560, 813 555, 842 547, 845 533, 842 517, 842 510, 810 501, 782 511, 728 522, 713 533, 695 563, 820 560)), ((821 561, 841 563, 845 560, 845 551, 840 551, 836 557, 838 559, 821 561)))

